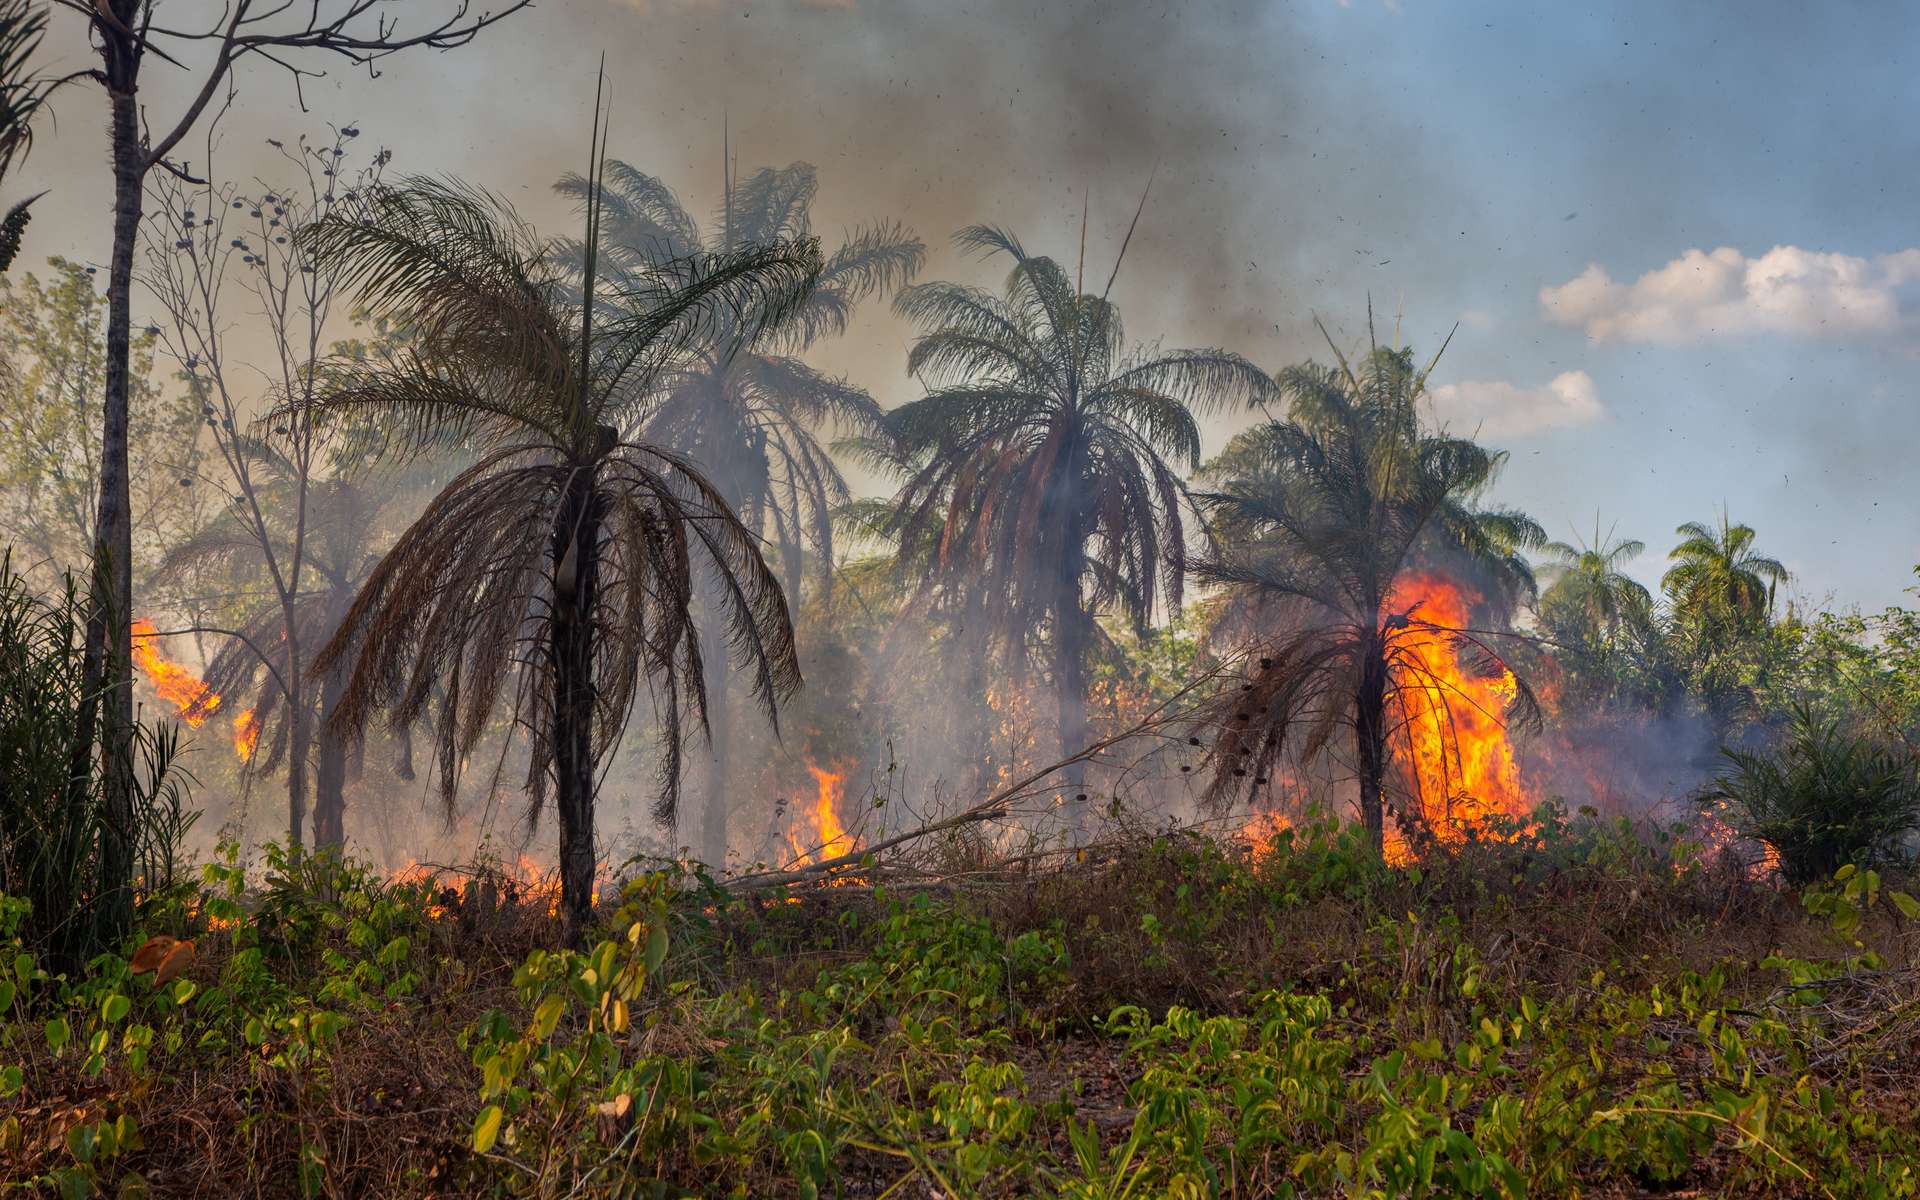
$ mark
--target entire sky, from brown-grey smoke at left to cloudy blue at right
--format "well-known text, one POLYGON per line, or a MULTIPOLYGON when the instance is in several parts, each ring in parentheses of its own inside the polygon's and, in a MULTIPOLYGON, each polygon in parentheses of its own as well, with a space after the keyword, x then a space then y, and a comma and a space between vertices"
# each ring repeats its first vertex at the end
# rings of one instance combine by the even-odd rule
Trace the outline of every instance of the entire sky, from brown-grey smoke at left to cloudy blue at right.
MULTIPOLYGON (((553 0, 378 81, 309 84, 305 115, 248 75, 215 157, 244 177, 263 136, 353 121, 397 171, 561 228, 549 184, 580 167, 605 50, 614 156, 693 207, 724 121, 743 171, 820 167, 829 242, 897 217, 929 275, 985 284, 998 269, 952 253, 956 227, 1071 255, 1087 204, 1104 276, 1154 173, 1116 286, 1135 336, 1281 367, 1323 353, 1315 313, 1361 340, 1369 298, 1417 348, 1457 323, 1436 405, 1511 451, 1501 501, 1563 538, 1597 513, 1649 543, 1649 582, 1672 528, 1724 503, 1797 595, 1880 607, 1920 563, 1916 23, 1899 4, 553 0)), ((156 73, 150 108, 169 86, 156 73)), ((31 257, 104 253, 88 104, 31 161, 61 196, 31 257)), ((899 403, 908 338, 876 305, 818 357, 899 403)), ((1210 417, 1210 449, 1244 422, 1210 417)))

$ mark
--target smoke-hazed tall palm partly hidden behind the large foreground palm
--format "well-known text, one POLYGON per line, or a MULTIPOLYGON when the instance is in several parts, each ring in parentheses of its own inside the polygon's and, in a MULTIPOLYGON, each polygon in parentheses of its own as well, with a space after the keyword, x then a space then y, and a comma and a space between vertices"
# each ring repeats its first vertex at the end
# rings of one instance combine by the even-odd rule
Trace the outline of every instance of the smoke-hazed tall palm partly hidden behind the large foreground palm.
MULTIPOLYGON (((622 282, 691 255, 806 240, 818 186, 806 163, 760 169, 737 186, 730 179, 708 230, 701 230, 664 182, 622 161, 607 163, 601 188, 568 175, 557 190, 582 207, 601 205, 595 261, 607 278, 622 282)), ((586 248, 570 244, 563 253, 578 276, 586 248)), ((664 372, 651 403, 634 415, 639 440, 697 463, 747 528, 760 534, 780 564, 787 595, 799 595, 808 553, 818 586, 831 584, 833 511, 849 501, 847 480, 820 445, 818 430, 839 424, 866 434, 879 424, 872 396, 814 371, 797 355, 845 332, 854 305, 904 284, 922 259, 925 246, 899 225, 856 228, 826 257, 804 303, 778 321, 755 311, 720 313, 720 336, 664 372), (758 336, 741 336, 747 324, 756 326, 758 336)), ((705 593, 701 599, 708 614, 707 657, 720 659, 726 651, 724 626, 714 618, 720 605, 705 593)), ((714 868, 726 862, 730 714, 720 680, 708 705, 714 760, 701 837, 701 856, 714 868)))

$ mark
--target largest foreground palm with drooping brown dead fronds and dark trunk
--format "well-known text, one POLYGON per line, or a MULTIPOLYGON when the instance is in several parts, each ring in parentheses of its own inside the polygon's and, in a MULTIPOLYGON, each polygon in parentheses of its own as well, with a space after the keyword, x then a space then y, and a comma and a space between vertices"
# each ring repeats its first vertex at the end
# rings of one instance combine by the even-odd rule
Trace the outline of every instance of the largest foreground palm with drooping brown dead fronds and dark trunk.
MULTIPOLYGON (((595 136, 595 152, 599 150, 595 136)), ((599 244, 599 209, 588 246, 599 244)), ((597 766, 647 684, 662 726, 659 820, 680 803, 682 724, 705 722, 695 578, 724 605, 732 645, 772 714, 799 685, 793 626, 758 540, 685 455, 622 434, 653 390, 699 348, 751 340, 803 303, 820 271, 812 242, 693 255, 566 298, 555 248, 499 198, 424 179, 372 190, 365 213, 315 227, 317 257, 378 315, 407 313, 394 359, 344 363, 324 413, 386 411, 399 447, 457 436, 478 447, 355 597, 317 670, 346 664, 330 720, 359 732, 376 708, 432 726, 453 804, 461 758, 511 684, 530 741, 538 818, 551 783, 570 935, 591 908, 597 766)))

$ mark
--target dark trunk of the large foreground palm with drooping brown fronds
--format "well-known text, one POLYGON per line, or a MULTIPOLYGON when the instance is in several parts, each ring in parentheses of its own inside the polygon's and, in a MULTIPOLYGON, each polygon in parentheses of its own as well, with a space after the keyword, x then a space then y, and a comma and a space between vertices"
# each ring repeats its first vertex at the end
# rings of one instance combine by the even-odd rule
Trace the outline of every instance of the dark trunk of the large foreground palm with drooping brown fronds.
POLYGON ((593 916, 593 603, 599 503, 576 467, 553 530, 553 801, 561 818, 561 914, 578 943, 593 916))

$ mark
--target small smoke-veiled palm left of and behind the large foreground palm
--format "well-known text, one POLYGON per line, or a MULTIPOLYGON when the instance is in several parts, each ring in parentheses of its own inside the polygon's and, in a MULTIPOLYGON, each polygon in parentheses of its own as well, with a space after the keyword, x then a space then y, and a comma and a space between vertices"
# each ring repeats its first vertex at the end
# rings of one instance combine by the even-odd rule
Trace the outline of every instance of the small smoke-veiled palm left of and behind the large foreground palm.
MULTIPOLYGON (((346 618, 355 593, 372 574, 378 555, 372 551, 374 522, 386 497, 367 484, 330 478, 309 480, 305 490, 305 520, 292 520, 292 493, 300 488, 298 468, 273 445, 250 440, 246 449, 261 463, 261 511, 273 520, 269 534, 290 543, 303 541, 309 580, 282 605, 278 595, 246 609, 234 637, 207 660, 205 695, 219 697, 221 712, 246 712, 248 724, 236 730, 236 749, 246 770, 271 774, 288 762, 290 755, 305 753, 305 730, 313 737, 313 845, 340 847, 346 843, 346 778, 349 739, 324 720, 340 703, 346 672, 336 664, 319 672, 319 687, 294 687, 292 682, 313 672, 315 651, 332 637, 346 618), (282 503, 286 501, 286 503, 282 503), (294 637, 286 636, 288 624, 294 637), (294 707, 305 705, 303 720, 294 720, 294 707)), ((280 549, 290 557, 290 549, 280 549)), ((161 564, 163 580, 204 574, 257 563, 257 530, 236 511, 219 513, 186 541, 177 545, 161 564)), ((202 712, 211 708, 202 707, 202 712)), ((188 716, 194 712, 190 710, 188 716)), ((296 814, 305 797, 294 799, 296 814)))

